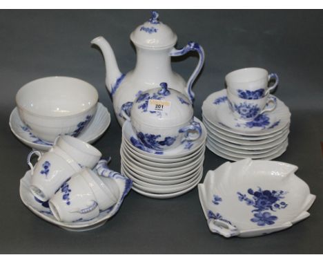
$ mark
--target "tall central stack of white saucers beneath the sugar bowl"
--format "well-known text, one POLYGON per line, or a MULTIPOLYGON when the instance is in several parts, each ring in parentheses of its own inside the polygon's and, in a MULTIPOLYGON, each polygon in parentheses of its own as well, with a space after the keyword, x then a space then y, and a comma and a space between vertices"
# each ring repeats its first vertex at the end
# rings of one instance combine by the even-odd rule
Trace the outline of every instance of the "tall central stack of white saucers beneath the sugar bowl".
POLYGON ((203 176, 206 129, 193 142, 175 149, 155 151, 137 138, 131 122, 122 127, 121 173, 133 180, 133 189, 150 198, 173 198, 190 191, 203 176))

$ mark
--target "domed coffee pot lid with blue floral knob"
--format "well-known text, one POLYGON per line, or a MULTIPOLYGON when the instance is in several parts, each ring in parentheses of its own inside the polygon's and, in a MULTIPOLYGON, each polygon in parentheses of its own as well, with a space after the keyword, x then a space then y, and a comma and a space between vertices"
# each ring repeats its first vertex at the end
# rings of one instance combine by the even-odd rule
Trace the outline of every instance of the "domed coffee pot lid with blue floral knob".
POLYGON ((158 17, 158 12, 152 11, 150 19, 131 33, 130 39, 136 46, 143 48, 168 48, 175 46, 177 35, 169 26, 159 21, 158 17))

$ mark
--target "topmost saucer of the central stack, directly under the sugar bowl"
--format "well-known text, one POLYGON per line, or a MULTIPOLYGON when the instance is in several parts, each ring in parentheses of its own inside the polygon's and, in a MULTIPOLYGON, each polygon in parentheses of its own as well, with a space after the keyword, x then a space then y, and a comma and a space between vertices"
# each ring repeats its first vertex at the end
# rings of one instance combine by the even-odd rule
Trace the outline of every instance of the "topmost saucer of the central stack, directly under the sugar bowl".
POLYGON ((125 140, 128 143, 128 146, 130 146, 132 149, 143 155, 148 155, 153 158, 162 157, 164 159, 182 158, 197 151, 197 149, 199 149, 199 147, 201 147, 206 140, 206 128, 204 124, 199 119, 197 119, 197 117, 194 117, 194 121, 199 122, 199 124, 201 124, 202 126, 201 137, 193 142, 183 142, 175 149, 169 149, 166 151, 155 151, 154 149, 147 148, 137 138, 135 131, 133 131, 133 126, 131 126, 131 123, 128 120, 124 122, 124 125, 122 126, 123 140, 125 140))

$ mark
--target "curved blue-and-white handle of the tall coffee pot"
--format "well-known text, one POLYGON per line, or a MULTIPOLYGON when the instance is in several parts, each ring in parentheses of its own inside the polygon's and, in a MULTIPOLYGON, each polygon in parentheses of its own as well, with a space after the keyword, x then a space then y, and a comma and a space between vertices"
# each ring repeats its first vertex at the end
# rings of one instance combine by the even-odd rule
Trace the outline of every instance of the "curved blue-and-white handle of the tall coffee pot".
POLYGON ((200 46, 196 42, 190 41, 184 48, 180 50, 173 48, 173 50, 170 51, 170 56, 173 56, 173 57, 182 56, 191 50, 197 51, 197 53, 199 54, 199 62, 197 63, 195 70, 193 71, 192 75, 190 75, 190 78, 188 79, 188 82, 186 84, 186 93, 188 95, 188 98, 190 98, 190 101, 193 102, 195 94, 192 91, 192 86, 197 75, 199 75, 199 72, 202 70, 204 59, 205 59, 204 50, 202 46, 200 46))

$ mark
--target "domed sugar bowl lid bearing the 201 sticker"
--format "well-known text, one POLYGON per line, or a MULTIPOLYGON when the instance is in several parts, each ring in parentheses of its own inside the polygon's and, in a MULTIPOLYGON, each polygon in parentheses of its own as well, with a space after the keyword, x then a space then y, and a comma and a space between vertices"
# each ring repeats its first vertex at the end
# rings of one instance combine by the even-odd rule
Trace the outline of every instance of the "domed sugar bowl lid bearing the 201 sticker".
POLYGON ((159 88, 137 94, 130 116, 131 120, 148 126, 178 126, 193 118, 193 105, 186 95, 162 82, 159 88))

